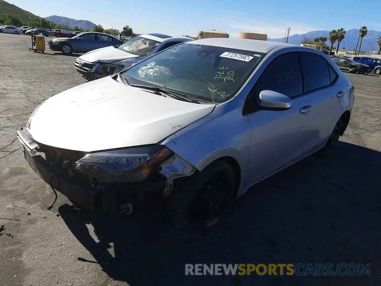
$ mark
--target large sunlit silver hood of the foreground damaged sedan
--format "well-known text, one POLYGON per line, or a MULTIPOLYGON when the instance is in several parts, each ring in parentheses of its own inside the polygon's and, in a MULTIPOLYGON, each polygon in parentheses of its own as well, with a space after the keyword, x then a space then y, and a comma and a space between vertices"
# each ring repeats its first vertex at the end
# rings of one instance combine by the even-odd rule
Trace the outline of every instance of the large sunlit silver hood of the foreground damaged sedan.
POLYGON ((105 77, 46 100, 30 121, 30 133, 39 143, 85 152, 155 144, 207 116, 214 107, 105 77))

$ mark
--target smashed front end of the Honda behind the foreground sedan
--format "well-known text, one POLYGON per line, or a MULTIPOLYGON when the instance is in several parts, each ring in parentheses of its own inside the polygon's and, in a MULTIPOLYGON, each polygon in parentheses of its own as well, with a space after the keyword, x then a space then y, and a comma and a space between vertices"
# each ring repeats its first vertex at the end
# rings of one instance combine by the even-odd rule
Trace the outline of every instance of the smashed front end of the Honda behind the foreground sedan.
POLYGON ((74 68, 82 74, 88 81, 101 79, 102 77, 111 76, 124 69, 123 64, 113 64, 113 63, 89 63, 83 61, 80 58, 74 63, 74 68))

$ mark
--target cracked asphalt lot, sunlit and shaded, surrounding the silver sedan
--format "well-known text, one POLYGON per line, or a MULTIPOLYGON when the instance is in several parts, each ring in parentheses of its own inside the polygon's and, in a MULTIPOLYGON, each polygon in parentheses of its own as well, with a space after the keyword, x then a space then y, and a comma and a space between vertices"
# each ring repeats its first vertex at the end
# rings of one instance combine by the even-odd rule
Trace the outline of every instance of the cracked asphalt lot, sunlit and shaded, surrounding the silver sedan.
MULTIPOLYGON (((255 186, 213 230, 176 231, 154 202, 128 218, 51 210, 50 187, 16 140, 34 108, 84 82, 75 56, 29 52, 0 34, 0 285, 379 285, 381 79, 349 74, 351 122, 328 159, 312 156, 255 186), (83 258, 90 260, 84 262, 83 258), (371 276, 185 276, 184 264, 363 263, 371 276)), ((68 114, 68 116, 74 116, 68 114)))

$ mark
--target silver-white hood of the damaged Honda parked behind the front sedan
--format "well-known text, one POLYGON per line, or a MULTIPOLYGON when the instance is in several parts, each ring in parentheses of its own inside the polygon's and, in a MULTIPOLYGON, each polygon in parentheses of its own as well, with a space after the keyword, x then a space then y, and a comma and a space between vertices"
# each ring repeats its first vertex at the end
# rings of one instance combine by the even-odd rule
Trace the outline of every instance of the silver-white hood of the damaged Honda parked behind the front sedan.
POLYGON ((122 59, 138 58, 138 55, 127 53, 114 47, 100 48, 97 50, 89 51, 85 55, 80 56, 80 59, 89 63, 102 62, 112 63, 113 61, 121 61, 122 59))

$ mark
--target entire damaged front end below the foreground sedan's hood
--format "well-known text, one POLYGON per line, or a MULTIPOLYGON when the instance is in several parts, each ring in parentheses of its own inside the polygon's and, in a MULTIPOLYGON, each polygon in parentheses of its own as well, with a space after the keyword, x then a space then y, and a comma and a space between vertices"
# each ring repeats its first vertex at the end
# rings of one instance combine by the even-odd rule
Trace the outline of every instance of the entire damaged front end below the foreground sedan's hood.
POLYGON ((132 210, 147 193, 168 196, 174 179, 196 170, 163 145, 86 153, 40 144, 28 127, 18 138, 26 161, 53 190, 91 210, 132 210))

